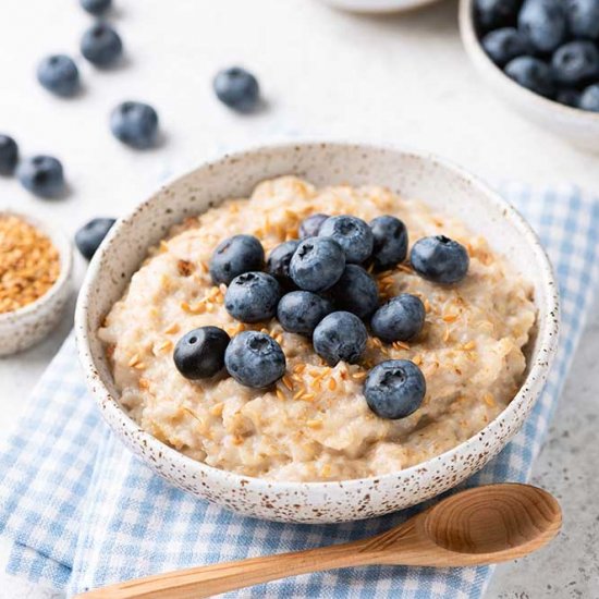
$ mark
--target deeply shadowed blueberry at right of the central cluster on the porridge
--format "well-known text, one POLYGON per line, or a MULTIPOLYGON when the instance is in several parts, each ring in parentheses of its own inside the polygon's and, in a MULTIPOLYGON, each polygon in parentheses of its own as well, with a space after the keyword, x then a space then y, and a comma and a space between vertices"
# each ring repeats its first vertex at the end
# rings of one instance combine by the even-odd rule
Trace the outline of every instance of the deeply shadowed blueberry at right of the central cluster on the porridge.
POLYGON ((334 307, 367 320, 379 307, 379 289, 375 279, 360 266, 347 265, 339 281, 330 289, 334 307))

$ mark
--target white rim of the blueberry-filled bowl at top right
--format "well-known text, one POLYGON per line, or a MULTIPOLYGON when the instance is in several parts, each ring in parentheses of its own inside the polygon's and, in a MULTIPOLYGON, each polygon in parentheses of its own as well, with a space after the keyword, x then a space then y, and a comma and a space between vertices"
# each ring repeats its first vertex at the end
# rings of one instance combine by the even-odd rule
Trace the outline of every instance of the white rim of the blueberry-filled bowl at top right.
POLYGON ((492 76, 499 85, 503 85, 506 89, 511 89, 514 94, 518 94, 523 101, 533 101, 539 109, 559 112, 570 120, 588 120, 599 125, 599 112, 583 110, 582 108, 575 108, 560 103, 555 100, 550 100, 510 78, 482 49, 482 45, 478 39, 474 25, 474 1, 475 0, 460 0, 457 21, 462 44, 466 50, 466 54, 475 64, 480 65, 480 68, 486 68, 488 74, 492 76))

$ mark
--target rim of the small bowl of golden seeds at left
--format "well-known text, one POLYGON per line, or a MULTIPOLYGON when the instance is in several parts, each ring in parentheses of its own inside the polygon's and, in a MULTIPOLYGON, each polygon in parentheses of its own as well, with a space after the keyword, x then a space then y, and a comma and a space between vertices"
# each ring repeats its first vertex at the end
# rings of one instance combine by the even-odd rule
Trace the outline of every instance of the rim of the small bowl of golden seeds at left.
POLYGON ((0 314, 0 326, 4 323, 14 323, 16 319, 26 318, 28 315, 35 313, 40 306, 51 302, 68 284, 73 270, 73 248, 66 235, 54 225, 49 225, 47 220, 41 220, 27 212, 20 210, 13 210, 12 208, 0 208, 0 217, 3 215, 13 216, 20 218, 26 223, 37 229, 40 233, 44 233, 57 248, 60 257, 60 272, 58 279, 52 286, 37 300, 30 304, 26 304, 15 310, 0 314))

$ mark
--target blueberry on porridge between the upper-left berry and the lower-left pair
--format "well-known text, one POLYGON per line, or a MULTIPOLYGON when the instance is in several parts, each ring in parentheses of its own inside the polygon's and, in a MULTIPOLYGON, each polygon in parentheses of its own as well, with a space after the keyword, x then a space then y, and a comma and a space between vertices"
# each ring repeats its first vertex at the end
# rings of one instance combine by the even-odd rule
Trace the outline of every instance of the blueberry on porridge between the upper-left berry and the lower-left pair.
POLYGON ((277 314, 281 288, 266 272, 244 272, 235 277, 224 295, 227 311, 242 322, 269 320, 277 314))

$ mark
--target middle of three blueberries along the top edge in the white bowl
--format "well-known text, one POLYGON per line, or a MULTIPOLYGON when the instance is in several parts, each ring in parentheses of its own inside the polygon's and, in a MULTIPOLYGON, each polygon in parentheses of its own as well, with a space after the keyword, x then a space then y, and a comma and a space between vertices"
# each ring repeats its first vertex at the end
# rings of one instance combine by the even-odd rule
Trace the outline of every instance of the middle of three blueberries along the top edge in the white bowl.
POLYGON ((525 0, 518 15, 518 29, 540 52, 552 52, 565 41, 567 22, 563 0, 525 0))

